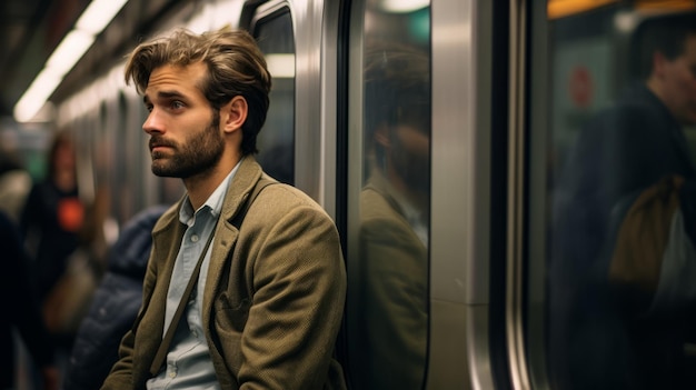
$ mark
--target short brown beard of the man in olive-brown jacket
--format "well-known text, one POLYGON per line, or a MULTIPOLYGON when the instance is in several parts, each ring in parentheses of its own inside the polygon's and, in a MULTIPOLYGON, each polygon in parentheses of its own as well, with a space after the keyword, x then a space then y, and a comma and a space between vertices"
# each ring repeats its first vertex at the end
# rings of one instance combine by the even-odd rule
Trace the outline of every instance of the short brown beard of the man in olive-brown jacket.
POLYGON ((218 132, 220 113, 216 110, 212 120, 202 132, 190 134, 182 143, 152 137, 150 142, 170 147, 173 156, 152 153, 152 173, 159 177, 188 179, 211 171, 222 157, 225 140, 218 132))

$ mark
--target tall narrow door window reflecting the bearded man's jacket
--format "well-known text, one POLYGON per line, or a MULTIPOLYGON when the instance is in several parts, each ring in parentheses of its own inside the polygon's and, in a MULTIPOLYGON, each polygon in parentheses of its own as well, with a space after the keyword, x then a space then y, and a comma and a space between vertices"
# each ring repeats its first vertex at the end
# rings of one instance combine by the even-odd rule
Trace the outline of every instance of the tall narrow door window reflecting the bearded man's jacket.
POLYGON ((426 377, 430 13, 427 1, 415 3, 351 3, 346 319, 355 389, 418 389, 426 377))

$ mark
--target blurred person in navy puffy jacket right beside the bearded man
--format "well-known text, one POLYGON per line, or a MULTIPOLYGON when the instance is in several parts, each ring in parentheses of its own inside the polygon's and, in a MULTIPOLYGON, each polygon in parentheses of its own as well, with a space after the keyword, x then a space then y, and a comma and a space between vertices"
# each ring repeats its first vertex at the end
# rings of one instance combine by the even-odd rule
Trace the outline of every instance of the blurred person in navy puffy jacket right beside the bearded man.
POLYGON ((107 272, 77 333, 64 390, 98 389, 118 360, 121 337, 132 326, 142 301, 151 230, 165 210, 166 206, 153 206, 140 211, 111 248, 107 272))

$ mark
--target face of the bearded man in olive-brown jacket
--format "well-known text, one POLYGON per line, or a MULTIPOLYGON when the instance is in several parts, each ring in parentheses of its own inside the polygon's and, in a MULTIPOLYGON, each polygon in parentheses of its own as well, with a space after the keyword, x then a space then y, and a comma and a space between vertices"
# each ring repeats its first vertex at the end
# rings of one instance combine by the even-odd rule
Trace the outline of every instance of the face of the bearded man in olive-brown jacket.
POLYGON ((143 96, 150 113, 142 129, 150 134, 157 176, 187 179, 210 172, 220 161, 225 150, 220 116, 197 87, 206 71, 199 62, 163 66, 150 74, 143 96))

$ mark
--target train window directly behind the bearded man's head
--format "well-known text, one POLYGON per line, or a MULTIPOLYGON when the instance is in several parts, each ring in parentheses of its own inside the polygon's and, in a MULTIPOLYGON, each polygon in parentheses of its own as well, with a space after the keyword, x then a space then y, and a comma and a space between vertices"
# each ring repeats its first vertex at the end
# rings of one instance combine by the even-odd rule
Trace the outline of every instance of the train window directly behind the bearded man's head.
POLYGON ((269 12, 253 26, 272 77, 266 124, 258 134, 258 161, 281 182, 295 183, 295 36, 287 7, 269 12))

